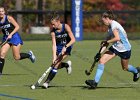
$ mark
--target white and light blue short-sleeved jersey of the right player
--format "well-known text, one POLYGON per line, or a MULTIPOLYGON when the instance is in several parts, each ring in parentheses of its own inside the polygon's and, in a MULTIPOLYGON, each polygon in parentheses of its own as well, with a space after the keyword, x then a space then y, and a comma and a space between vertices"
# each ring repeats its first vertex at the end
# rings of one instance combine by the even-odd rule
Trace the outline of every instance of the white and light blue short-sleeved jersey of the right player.
POLYGON ((112 47, 118 52, 125 52, 131 50, 131 44, 128 41, 127 34, 124 28, 115 20, 112 21, 110 28, 108 29, 108 34, 112 38, 114 37, 113 30, 117 29, 119 32, 120 41, 116 41, 112 44, 112 47))

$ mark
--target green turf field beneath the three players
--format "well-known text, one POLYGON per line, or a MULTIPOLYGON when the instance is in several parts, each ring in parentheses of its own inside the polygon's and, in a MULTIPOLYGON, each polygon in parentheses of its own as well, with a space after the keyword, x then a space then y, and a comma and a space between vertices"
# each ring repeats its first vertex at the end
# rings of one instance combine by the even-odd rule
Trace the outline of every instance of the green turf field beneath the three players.
MULTIPOLYGON (((0 100, 139 100, 140 80, 132 81, 132 74, 121 69, 120 59, 116 57, 106 64, 103 77, 96 90, 89 90, 84 81, 92 79, 84 71, 89 69, 93 57, 99 49, 100 41, 82 41, 75 43, 72 55, 73 72, 67 75, 65 69, 58 71, 51 87, 31 90, 39 76, 51 64, 51 41, 25 41, 21 51, 30 49, 37 61, 32 64, 28 59, 14 61, 11 51, 7 55, 3 75, 0 76, 0 100)), ((131 41, 132 56, 130 64, 140 64, 140 41, 131 41)))

